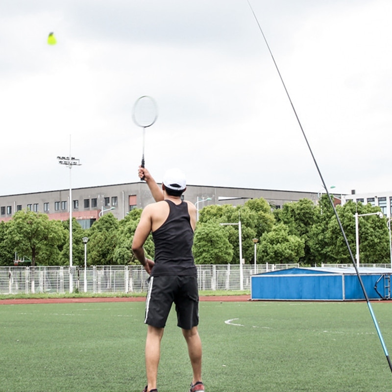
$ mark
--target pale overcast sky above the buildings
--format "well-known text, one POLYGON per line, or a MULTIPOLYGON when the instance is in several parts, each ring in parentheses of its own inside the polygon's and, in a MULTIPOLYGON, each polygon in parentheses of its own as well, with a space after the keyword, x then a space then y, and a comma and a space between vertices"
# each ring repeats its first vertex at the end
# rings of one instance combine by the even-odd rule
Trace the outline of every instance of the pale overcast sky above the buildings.
MULTIPOLYGON (((250 3, 327 186, 392 190, 391 0, 250 3)), ((322 188, 246 0, 1 0, 0 56, 0 195, 138 181, 143 95, 157 181, 322 188)))

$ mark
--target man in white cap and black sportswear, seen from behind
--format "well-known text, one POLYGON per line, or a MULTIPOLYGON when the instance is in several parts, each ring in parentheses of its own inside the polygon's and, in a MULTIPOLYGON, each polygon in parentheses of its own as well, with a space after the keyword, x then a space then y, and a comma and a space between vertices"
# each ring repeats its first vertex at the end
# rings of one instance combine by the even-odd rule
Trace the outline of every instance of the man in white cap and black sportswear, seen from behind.
POLYGON ((197 331, 197 270, 192 255, 196 207, 181 199, 186 180, 178 169, 165 173, 162 189, 147 169, 139 168, 139 177, 144 177, 156 201, 144 208, 132 243, 133 253, 150 275, 145 319, 147 386, 143 392, 157 392, 161 339, 173 302, 193 370, 190 392, 204 392, 197 331), (146 258, 143 249, 150 232, 155 244, 154 261, 146 258))

